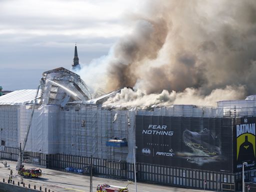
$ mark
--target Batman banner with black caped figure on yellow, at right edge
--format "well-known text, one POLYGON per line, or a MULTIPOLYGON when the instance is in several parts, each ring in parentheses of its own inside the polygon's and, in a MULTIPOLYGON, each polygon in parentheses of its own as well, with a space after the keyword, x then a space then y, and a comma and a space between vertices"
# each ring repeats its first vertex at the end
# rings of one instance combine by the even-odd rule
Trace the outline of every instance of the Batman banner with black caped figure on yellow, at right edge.
POLYGON ((256 117, 233 119, 234 130, 234 170, 242 171, 242 163, 247 162, 245 170, 256 168, 255 144, 256 117))

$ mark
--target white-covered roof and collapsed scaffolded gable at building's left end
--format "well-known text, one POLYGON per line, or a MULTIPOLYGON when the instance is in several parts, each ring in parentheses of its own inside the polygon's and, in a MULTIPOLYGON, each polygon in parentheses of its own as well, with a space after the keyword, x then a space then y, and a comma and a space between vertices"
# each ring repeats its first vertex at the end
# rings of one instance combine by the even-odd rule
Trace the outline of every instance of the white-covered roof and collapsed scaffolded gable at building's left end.
MULTIPOLYGON (((48 70, 42 73, 36 103, 43 105, 66 103, 102 104, 107 98, 116 94, 120 89, 109 93, 97 92, 92 98, 91 92, 78 74, 63 67, 48 70)), ((32 104, 36 89, 15 90, 0 97, 0 105, 32 104)))

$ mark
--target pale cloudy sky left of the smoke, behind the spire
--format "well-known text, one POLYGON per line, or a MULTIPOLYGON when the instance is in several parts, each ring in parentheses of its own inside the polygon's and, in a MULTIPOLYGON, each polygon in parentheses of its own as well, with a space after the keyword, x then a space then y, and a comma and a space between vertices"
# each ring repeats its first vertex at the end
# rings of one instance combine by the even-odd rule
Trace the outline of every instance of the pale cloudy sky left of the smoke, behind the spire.
POLYGON ((43 71, 108 54, 135 0, 0 0, 0 85, 35 89, 43 71))

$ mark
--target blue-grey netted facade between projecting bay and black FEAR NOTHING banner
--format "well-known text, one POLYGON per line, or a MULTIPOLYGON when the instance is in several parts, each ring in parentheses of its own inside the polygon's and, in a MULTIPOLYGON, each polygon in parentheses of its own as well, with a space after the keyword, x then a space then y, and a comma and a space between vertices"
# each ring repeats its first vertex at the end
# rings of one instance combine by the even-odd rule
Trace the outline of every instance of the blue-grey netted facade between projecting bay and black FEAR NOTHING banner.
POLYGON ((114 137, 127 139, 127 110, 67 106, 60 111, 60 127, 60 153, 126 160, 127 147, 109 147, 106 142, 114 137))

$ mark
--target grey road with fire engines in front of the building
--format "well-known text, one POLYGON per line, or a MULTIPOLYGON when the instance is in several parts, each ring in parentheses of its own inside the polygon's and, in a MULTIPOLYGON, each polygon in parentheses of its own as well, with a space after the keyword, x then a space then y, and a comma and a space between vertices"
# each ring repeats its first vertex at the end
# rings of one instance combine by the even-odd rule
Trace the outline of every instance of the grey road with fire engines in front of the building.
MULTIPOLYGON (((5 178, 5 180, 7 181, 8 176, 10 174, 10 169, 12 169, 13 170, 12 179, 14 180, 15 183, 17 183, 18 181, 20 181, 20 176, 17 174, 17 171, 15 170, 16 161, 7 160, 7 164, 9 165, 9 167, 4 167, 2 163, 0 164, 1 181, 2 181, 2 178, 5 178)), ((25 168, 32 168, 32 167, 36 167, 36 166, 25 165, 25 168)), ((47 189, 50 189, 53 191, 59 191, 59 192, 62 192, 62 191, 63 192, 67 192, 67 191, 88 192, 89 191, 89 183, 90 183, 89 176, 70 173, 70 172, 64 172, 64 171, 58 171, 58 170, 52 170, 47 168, 41 168, 41 170, 42 170, 42 177, 40 178, 24 177, 23 181, 25 182, 25 184, 28 185, 28 183, 30 183, 31 187, 33 187, 33 185, 36 185, 37 188, 39 187, 39 185, 41 185, 42 189, 46 187, 47 189)), ((92 178, 92 185, 93 185, 92 191, 96 191, 96 185, 100 183, 107 183, 107 184, 117 185, 117 186, 126 186, 128 184, 127 187, 129 191, 130 192, 135 191, 135 185, 133 182, 95 177, 95 176, 93 176, 92 178)), ((186 188, 178 188, 178 187, 137 182, 137 191, 139 192, 154 192, 154 191, 202 192, 204 190, 186 189, 186 188)))

